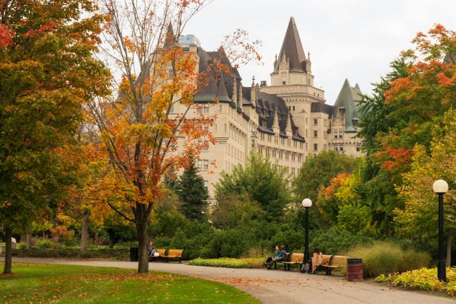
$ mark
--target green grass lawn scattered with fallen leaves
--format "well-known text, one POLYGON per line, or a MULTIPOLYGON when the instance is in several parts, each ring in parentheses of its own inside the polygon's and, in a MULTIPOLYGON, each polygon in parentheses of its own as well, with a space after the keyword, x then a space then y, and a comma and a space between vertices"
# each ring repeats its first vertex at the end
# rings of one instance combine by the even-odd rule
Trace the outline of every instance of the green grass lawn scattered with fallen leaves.
POLYGON ((13 263, 13 273, 0 275, 0 303, 260 303, 223 283, 156 271, 13 263))

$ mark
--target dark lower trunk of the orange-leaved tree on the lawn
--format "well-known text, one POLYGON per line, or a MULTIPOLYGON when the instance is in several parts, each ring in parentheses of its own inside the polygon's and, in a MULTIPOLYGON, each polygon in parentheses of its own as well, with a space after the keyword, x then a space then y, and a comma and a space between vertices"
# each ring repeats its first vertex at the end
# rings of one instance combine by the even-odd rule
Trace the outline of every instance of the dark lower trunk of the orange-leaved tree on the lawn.
POLYGON ((146 205, 136 203, 136 231, 138 232, 138 273, 147 274, 149 272, 148 257, 148 215, 146 205))

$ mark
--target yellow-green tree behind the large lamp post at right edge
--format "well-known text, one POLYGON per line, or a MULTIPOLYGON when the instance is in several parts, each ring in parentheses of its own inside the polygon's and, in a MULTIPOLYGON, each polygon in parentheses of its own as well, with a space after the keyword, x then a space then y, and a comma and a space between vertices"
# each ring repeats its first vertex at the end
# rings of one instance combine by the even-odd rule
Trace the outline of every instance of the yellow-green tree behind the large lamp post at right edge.
POLYGON ((404 209, 395 210, 395 221, 403 235, 421 235, 435 239, 438 235, 438 199, 432 185, 436 180, 448 182, 444 199, 447 264, 451 261, 452 230, 456 228, 456 111, 450 109, 443 117, 443 127, 433 128, 431 153, 416 144, 412 168, 404 173, 404 183, 397 187, 404 209))

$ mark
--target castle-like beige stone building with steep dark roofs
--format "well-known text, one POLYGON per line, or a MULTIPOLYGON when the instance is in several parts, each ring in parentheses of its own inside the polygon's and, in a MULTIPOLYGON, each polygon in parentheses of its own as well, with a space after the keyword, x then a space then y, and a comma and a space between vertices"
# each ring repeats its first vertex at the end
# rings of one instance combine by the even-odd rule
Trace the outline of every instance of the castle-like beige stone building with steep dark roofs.
MULTIPOLYGON (((310 54, 304 52, 294 18, 275 59, 270 85, 266 81, 258 84, 253 78, 250 86, 244 86, 223 49, 205 52, 193 35, 181 36, 178 41, 185 52, 199 60, 199 71, 208 69, 211 59, 229 66, 229 73, 210 81, 195 98, 203 105, 198 111, 217 114, 210 129, 217 143, 201 151, 196 163, 210 194, 220 173, 231 173, 234 166, 244 165, 251 149, 268 156, 272 163, 277 161, 280 169, 292 175, 299 174, 310 154, 332 149, 361 156, 361 141, 354 137, 361 115, 356 103, 361 100, 361 90, 345 80, 335 104, 325 103, 325 91, 313 86, 310 54)), ((185 110, 176 103, 170 116, 185 110)))

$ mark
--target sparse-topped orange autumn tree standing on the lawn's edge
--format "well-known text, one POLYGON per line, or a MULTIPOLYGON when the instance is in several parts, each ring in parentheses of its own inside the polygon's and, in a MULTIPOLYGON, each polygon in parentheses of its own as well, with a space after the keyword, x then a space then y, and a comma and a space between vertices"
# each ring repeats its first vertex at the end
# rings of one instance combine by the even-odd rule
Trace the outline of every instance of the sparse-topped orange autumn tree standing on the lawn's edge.
POLYGON ((208 1, 101 2, 108 18, 102 47, 121 80, 114 83, 112 99, 90 103, 90 115, 100 131, 98 149, 113 169, 104 176, 103 184, 112 187, 106 203, 135 223, 138 272, 145 273, 148 220, 166 191, 162 177, 168 170, 187 168, 201 149, 215 144, 205 127, 216 116, 199 113, 201 105, 193 98, 228 67, 214 59, 199 71, 196 53, 184 52, 176 43, 208 1), (186 110, 170 116, 177 103, 186 110))

